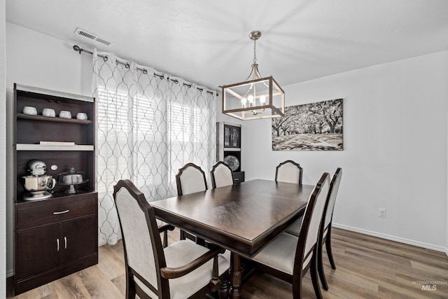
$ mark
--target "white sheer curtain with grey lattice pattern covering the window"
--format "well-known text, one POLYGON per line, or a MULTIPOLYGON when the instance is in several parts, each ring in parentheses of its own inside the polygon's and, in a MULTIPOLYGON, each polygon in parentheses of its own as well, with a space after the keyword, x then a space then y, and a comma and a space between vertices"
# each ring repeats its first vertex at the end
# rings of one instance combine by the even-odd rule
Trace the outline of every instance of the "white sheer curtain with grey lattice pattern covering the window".
POLYGON ((117 61, 94 50, 99 245, 121 238, 113 202, 120 179, 151 202, 176 195, 175 175, 187 162, 209 173, 216 160, 216 92, 117 61))

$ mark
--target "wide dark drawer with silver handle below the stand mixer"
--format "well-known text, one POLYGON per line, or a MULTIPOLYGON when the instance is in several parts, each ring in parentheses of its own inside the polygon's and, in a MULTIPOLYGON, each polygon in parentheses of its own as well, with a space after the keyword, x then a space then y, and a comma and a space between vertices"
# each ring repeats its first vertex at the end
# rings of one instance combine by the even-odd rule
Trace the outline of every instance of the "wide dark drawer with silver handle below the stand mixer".
POLYGON ((97 214, 97 193, 27 202, 17 209, 17 230, 97 214))

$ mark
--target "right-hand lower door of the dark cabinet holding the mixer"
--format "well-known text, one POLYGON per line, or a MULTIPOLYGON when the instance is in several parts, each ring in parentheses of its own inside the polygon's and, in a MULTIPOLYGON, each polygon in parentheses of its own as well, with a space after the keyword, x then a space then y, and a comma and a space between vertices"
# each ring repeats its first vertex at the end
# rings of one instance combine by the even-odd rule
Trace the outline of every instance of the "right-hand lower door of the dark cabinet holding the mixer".
POLYGON ((97 217, 91 216, 61 223, 62 263, 96 254, 97 217))

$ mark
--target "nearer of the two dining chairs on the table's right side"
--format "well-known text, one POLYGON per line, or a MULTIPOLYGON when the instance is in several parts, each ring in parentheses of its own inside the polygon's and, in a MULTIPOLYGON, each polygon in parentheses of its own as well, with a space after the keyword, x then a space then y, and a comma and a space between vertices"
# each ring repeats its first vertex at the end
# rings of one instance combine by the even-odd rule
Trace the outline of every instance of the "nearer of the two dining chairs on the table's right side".
POLYGON ((293 284, 293 298, 302 298, 302 277, 310 270, 314 293, 322 298, 318 283, 318 235, 328 199, 330 174, 325 172, 311 193, 299 237, 283 232, 252 260, 255 269, 293 284))

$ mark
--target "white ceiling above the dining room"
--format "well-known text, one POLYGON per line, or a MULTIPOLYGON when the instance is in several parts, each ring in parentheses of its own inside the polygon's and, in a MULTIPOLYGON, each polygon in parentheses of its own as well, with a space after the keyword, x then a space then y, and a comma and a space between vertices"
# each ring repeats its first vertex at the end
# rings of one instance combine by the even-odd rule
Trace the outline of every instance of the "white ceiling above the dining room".
POLYGON ((448 50, 447 0, 6 0, 6 20, 211 89, 248 76, 253 30, 280 85, 448 50))

